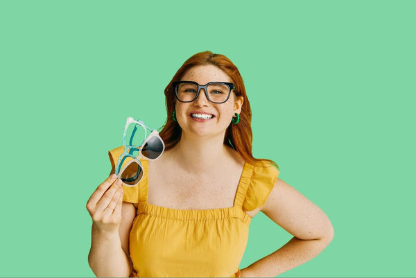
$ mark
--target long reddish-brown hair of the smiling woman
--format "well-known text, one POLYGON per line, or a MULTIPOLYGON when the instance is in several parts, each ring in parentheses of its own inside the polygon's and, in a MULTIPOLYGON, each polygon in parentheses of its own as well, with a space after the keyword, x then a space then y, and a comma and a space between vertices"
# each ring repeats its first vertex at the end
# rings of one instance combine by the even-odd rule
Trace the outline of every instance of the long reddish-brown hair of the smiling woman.
POLYGON ((173 121, 172 113, 175 110, 175 92, 173 92, 173 81, 178 81, 187 70, 191 67, 198 65, 207 65, 213 64, 222 71, 224 71, 229 78, 231 78, 236 89, 234 94, 236 96, 243 96, 243 106, 241 107, 240 121, 237 124, 230 123, 224 137, 224 144, 234 148, 241 157, 252 165, 265 166, 267 162, 279 169, 279 166, 270 159, 257 159, 252 155, 252 128, 251 128, 251 119, 252 112, 250 108, 250 102, 248 101, 247 94, 245 93, 245 87, 243 78, 240 75, 239 69, 229 60, 225 55, 215 54, 211 51, 204 51, 196 53, 191 58, 186 60, 182 67, 177 70, 175 76, 173 76, 171 82, 166 86, 164 94, 166 97, 166 123, 163 125, 162 130, 159 132, 160 137, 162 137, 165 150, 173 148, 179 141, 182 135, 182 128, 180 125, 173 121))

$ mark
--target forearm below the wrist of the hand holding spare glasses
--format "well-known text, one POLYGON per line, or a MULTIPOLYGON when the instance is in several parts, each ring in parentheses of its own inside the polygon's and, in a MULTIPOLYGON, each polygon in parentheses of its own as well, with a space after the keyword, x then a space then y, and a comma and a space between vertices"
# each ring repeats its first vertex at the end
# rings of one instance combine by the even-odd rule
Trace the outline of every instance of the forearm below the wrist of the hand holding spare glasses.
POLYGON ((101 232, 92 225, 89 267, 96 277, 129 277, 130 260, 121 248, 119 232, 101 232))

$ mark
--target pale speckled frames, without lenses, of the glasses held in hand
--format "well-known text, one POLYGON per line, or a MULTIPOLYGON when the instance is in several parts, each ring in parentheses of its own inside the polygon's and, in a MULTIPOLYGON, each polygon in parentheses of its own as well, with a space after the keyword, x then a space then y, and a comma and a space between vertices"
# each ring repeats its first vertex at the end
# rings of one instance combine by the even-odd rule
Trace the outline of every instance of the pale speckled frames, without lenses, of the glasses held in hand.
MULTIPOLYGON (((163 146, 162 153, 163 153, 164 152, 164 148, 165 148, 164 141, 162 140, 162 138, 160 138, 159 132, 157 130, 153 130, 152 128, 149 128, 143 121, 141 121, 139 119, 137 121, 135 121, 135 119, 133 119, 130 116, 127 118, 127 120, 125 121, 124 132, 123 132, 123 145, 124 145, 124 150, 123 150, 123 153, 119 156, 119 159, 118 159, 117 164, 116 164, 116 171, 115 171, 115 174, 116 174, 116 176, 119 179, 121 179, 120 173, 123 173, 123 171, 125 170, 125 168, 127 168, 130 164, 132 164, 132 162, 136 162, 137 164, 139 164, 139 166, 141 167, 141 171, 144 171, 143 165, 141 165, 141 162, 140 162, 140 157, 144 157, 145 159, 148 159, 148 160, 155 160, 155 159, 158 159, 160 157, 160 155, 162 155, 162 153, 161 153, 159 155, 159 157, 156 157, 154 159, 151 159, 151 158, 148 158, 148 157, 144 156, 141 153, 141 148, 140 147, 141 146, 144 146, 147 143, 147 141, 149 141, 150 138, 155 137, 155 136, 156 137, 159 137, 160 141, 162 141, 162 146, 163 146), (125 144, 125 135, 127 134, 128 126, 131 123, 139 124, 139 125, 141 125, 141 127, 144 128, 144 132, 145 132, 144 140, 141 142, 141 144, 139 144, 137 146, 132 146, 132 139, 133 139, 133 137, 135 135, 135 132, 137 130, 137 126, 135 126, 135 129, 132 132, 132 136, 130 137, 130 142, 129 142, 130 144, 125 144), (149 136, 147 136, 147 130, 146 130, 146 128, 148 130, 150 130, 149 136), (137 157, 134 156, 134 155, 132 155, 132 153, 135 150, 139 150, 139 155, 137 155, 137 157), (128 162, 127 164, 125 164, 125 166, 123 167, 123 169, 120 169, 121 168, 121 165, 123 164, 124 160, 127 157, 131 157, 132 160, 130 160, 130 162, 128 162)), ((142 178, 143 178, 143 175, 141 176, 141 179, 142 178)), ((139 184, 139 182, 141 181, 141 179, 136 184, 134 184, 134 185, 130 185, 130 184, 126 184, 126 185, 127 186, 136 186, 137 184, 139 184)))

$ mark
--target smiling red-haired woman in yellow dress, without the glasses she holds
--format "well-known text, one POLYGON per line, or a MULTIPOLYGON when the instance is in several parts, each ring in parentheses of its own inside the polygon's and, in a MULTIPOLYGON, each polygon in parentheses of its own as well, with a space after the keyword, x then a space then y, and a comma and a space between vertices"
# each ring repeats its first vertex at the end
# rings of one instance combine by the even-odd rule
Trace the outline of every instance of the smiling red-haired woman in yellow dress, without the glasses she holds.
POLYGON ((165 96, 162 156, 141 159, 145 176, 129 187, 113 175, 123 146, 110 150, 112 173, 87 202, 97 276, 275 277, 329 244, 324 212, 277 177, 275 162, 252 157, 250 103, 228 58, 193 55, 165 96), (200 87, 209 82, 218 83, 200 87), (293 238, 239 270, 259 211, 293 238))

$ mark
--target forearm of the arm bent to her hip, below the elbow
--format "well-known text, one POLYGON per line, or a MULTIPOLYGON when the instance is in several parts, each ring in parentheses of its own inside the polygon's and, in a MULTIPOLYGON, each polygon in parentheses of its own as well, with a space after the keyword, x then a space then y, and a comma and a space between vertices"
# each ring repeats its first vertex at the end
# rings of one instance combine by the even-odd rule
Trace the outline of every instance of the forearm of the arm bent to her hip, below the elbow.
POLYGON ((241 277, 276 277, 318 256, 330 242, 327 238, 302 240, 294 236, 279 250, 241 270, 241 277))

